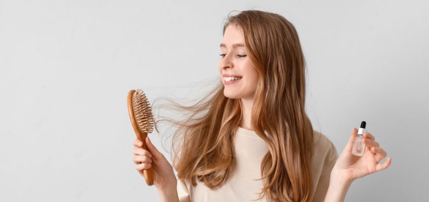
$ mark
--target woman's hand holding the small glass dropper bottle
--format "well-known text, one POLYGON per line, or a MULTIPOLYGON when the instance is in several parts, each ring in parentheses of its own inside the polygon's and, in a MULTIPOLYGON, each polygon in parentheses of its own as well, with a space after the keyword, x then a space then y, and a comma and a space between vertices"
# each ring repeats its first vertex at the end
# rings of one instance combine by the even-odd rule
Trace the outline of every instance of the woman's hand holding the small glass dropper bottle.
POLYGON ((386 162, 379 164, 387 156, 386 151, 375 141, 376 138, 367 132, 363 133, 362 141, 365 143, 363 156, 352 155, 353 142, 356 136, 357 129, 353 128, 349 142, 337 159, 331 173, 331 175, 339 175, 339 177, 348 182, 384 170, 392 162, 392 158, 389 157, 386 162))

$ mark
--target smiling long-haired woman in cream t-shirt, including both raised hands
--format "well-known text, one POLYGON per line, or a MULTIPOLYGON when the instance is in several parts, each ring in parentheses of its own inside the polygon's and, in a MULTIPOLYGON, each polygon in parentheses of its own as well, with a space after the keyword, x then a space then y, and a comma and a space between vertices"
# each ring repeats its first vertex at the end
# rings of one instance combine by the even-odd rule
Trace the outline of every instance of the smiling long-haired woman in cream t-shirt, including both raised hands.
POLYGON ((338 157, 313 130, 304 56, 284 17, 255 10, 229 17, 221 51, 219 85, 194 106, 176 104, 188 119, 169 120, 178 126, 178 179, 149 138, 147 150, 133 142, 136 169, 143 176, 153 168, 162 201, 343 201, 353 180, 390 165, 391 158, 378 164, 386 152, 370 133, 362 157, 351 154, 356 128, 338 157))

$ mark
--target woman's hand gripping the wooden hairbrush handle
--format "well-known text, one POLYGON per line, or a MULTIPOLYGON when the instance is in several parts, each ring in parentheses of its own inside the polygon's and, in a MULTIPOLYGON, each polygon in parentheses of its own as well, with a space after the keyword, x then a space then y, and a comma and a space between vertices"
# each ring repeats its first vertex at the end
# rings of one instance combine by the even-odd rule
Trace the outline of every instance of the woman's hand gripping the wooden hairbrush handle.
POLYGON ((135 139, 133 141, 133 161, 136 164, 136 170, 144 178, 143 170, 152 167, 153 170, 153 185, 159 191, 167 189, 176 190, 177 178, 174 175, 173 167, 167 161, 162 153, 153 146, 149 137, 146 137, 146 149, 141 147, 142 141, 135 139))

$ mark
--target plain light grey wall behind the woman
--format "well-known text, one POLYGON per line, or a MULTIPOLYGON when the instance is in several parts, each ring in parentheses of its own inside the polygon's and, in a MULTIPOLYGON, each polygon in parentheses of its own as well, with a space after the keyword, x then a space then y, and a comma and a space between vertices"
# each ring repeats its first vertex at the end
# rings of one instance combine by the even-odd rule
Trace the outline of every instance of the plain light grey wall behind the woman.
MULTIPOLYGON (((427 201, 428 8, 427 1, 0 1, 0 201, 157 201, 132 162, 126 95, 135 88, 149 100, 202 95, 193 89, 219 76, 224 19, 247 9, 295 25, 314 128, 341 153, 364 120, 392 157, 387 170, 353 182, 346 201, 427 201)), ((149 137, 163 150, 156 132, 149 137)))

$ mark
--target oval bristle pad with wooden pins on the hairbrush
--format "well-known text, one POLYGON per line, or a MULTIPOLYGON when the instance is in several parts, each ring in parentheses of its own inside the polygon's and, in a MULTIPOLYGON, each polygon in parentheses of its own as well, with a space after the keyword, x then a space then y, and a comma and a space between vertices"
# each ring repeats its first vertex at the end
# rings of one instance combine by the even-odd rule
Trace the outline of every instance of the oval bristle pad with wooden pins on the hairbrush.
POLYGON ((153 130, 152 109, 146 95, 141 89, 137 89, 133 93, 133 110, 140 131, 151 133, 153 130))

